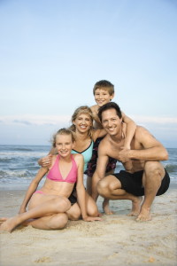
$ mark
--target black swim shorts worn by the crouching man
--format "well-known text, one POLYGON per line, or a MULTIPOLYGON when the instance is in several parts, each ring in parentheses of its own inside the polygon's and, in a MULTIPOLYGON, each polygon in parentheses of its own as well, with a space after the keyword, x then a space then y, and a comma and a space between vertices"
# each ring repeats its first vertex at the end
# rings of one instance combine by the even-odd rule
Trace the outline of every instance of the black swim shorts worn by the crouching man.
MULTIPOLYGON (((125 170, 119 171, 118 174, 112 174, 112 176, 115 176, 119 179, 119 182, 121 183, 121 188, 125 190, 128 193, 131 193, 135 196, 143 196, 144 195, 144 188, 142 187, 142 175, 143 170, 135 172, 133 174, 128 173, 125 170)), ((158 189, 158 193, 156 196, 164 194, 170 184, 170 176, 165 170, 165 176, 162 180, 162 184, 160 188, 158 189)))

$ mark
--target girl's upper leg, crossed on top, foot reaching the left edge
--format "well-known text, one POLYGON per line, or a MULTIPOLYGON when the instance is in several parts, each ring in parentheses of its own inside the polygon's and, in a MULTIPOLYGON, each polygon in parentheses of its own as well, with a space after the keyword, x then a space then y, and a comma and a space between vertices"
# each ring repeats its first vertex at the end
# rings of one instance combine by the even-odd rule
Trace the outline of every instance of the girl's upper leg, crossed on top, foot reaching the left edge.
MULTIPOLYGON (((42 195, 42 197, 44 197, 44 200, 46 199, 44 195, 42 195)), ((55 199, 45 201, 42 204, 29 209, 26 213, 19 214, 8 219, 1 225, 0 230, 12 231, 16 226, 27 221, 28 219, 65 213, 70 207, 71 203, 67 198, 56 197, 55 199)))

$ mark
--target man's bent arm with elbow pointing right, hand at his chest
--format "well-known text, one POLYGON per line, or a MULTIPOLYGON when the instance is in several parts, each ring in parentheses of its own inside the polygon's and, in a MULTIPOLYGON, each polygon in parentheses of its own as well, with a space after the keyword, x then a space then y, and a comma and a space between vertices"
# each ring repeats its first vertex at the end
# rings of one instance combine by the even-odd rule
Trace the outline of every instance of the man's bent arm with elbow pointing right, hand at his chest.
POLYGON ((168 160, 165 147, 147 129, 136 128, 135 142, 138 142, 142 149, 135 147, 132 150, 122 150, 119 152, 119 160, 168 160))

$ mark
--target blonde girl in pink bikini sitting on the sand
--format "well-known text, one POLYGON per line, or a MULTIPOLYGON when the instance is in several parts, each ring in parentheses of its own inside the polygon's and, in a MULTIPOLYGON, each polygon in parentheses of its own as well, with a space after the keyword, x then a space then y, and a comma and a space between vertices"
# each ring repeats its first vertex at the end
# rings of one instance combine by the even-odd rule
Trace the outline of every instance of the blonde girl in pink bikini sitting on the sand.
MULTIPOLYGON (((52 155, 50 168, 40 168, 29 185, 25 199, 19 209, 19 215, 2 219, 4 223, 1 224, 0 230, 11 232, 24 222, 38 229, 63 229, 68 217, 74 216, 70 195, 75 183, 82 219, 84 221, 101 220, 96 217, 98 211, 95 201, 86 194, 83 185, 83 156, 71 154, 73 145, 72 131, 69 129, 58 130, 53 139, 53 146, 57 148, 58 155, 52 155), (45 183, 40 190, 36 191, 42 177, 48 171, 45 183), (28 211, 26 211, 27 204, 28 211), (88 206, 92 216, 89 216, 88 206), (29 219, 33 220, 28 221, 29 219)), ((78 213, 75 216, 79 218, 78 213)))

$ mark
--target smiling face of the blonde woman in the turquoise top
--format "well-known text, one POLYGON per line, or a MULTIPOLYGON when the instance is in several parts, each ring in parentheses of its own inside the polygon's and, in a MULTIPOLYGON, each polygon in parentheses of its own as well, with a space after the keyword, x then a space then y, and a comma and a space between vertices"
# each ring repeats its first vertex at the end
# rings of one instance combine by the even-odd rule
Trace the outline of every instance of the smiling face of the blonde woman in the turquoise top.
POLYGON ((82 133, 88 132, 92 126, 92 120, 89 114, 80 113, 77 115, 75 121, 73 121, 76 129, 82 133))

